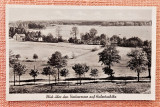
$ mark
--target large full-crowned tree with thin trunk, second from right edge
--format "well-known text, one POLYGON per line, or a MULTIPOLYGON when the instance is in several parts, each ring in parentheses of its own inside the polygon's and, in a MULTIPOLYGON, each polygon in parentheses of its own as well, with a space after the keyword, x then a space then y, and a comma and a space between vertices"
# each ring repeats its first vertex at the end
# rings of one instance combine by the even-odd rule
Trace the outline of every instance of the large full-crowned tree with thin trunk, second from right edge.
POLYGON ((146 70, 147 55, 141 49, 135 49, 128 53, 127 56, 130 58, 127 67, 137 72, 139 82, 140 73, 146 70))

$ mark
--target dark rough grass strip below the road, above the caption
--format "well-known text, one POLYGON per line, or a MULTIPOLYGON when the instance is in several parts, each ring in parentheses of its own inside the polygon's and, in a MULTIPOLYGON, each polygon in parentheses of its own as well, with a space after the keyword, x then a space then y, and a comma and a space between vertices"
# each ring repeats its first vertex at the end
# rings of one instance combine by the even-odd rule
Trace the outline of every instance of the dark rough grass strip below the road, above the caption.
POLYGON ((58 85, 11 85, 10 93, 143 93, 150 94, 150 82, 98 82, 82 85, 59 83, 58 85))

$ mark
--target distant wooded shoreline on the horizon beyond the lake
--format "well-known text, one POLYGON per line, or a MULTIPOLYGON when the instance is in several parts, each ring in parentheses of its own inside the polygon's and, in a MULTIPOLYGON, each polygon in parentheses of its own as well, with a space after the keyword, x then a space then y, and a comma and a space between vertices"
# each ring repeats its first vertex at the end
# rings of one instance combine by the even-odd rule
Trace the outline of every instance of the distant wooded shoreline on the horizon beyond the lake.
POLYGON ((22 24, 25 28, 43 29, 52 25, 100 25, 100 26, 151 26, 152 21, 23 21, 9 23, 10 26, 18 27, 22 24))

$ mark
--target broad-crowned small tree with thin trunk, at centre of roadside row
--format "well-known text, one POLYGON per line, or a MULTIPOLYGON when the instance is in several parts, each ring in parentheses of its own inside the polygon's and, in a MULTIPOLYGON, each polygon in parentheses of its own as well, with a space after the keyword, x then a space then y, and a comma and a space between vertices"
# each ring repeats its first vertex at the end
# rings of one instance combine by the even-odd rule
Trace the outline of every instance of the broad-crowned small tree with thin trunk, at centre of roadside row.
POLYGON ((89 70, 89 66, 86 64, 75 64, 72 69, 75 71, 76 75, 79 76, 81 85, 81 76, 89 70))

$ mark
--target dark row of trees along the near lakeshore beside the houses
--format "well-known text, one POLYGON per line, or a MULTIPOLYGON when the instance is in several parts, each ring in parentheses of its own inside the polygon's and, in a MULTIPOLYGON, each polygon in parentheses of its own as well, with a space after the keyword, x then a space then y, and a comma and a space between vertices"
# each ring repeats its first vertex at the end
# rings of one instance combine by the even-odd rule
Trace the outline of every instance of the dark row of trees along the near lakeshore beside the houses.
MULTIPOLYGON (((30 24, 29 24, 30 25, 30 24)), ((31 24, 32 25, 32 24, 31 24)), ((34 24, 33 24, 34 25, 34 24)), ((70 31, 71 37, 67 40, 64 40, 61 35, 62 29, 57 26, 56 27, 56 36, 54 37, 51 33, 48 35, 42 35, 40 31, 26 31, 25 28, 18 26, 10 27, 9 29, 9 36, 13 37, 16 33, 18 34, 25 34, 26 41, 38 41, 38 38, 42 37, 44 42, 51 42, 51 43, 58 43, 58 42, 69 42, 69 43, 76 43, 76 44, 92 44, 92 45, 110 45, 116 44, 122 47, 142 47, 142 46, 149 46, 151 45, 151 41, 142 41, 138 37, 131 37, 131 38, 121 38, 118 35, 113 35, 111 38, 108 38, 106 34, 101 34, 100 36, 97 35, 98 31, 95 28, 91 28, 89 33, 86 32, 85 34, 81 33, 81 39, 77 39, 77 35, 79 34, 78 27, 72 27, 70 31)))

